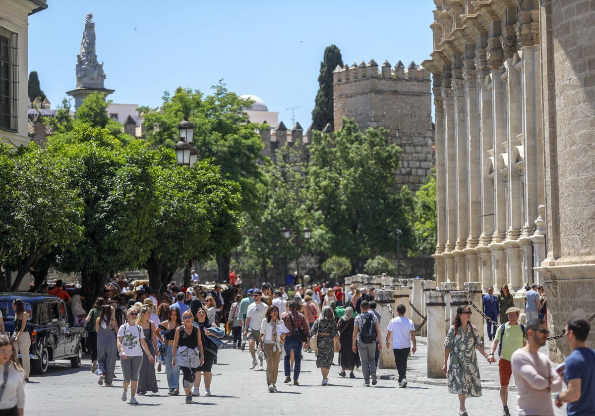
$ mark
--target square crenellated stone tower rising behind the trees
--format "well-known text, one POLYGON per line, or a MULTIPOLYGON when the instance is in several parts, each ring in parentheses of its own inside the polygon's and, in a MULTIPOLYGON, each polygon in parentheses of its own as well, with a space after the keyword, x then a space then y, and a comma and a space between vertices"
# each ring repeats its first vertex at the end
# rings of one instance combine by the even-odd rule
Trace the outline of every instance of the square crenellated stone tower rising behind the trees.
POLYGON ((391 68, 370 61, 334 70, 334 128, 344 117, 353 118, 362 131, 383 127, 392 143, 403 149, 397 187, 417 191, 434 165, 431 127, 430 73, 411 62, 391 68))

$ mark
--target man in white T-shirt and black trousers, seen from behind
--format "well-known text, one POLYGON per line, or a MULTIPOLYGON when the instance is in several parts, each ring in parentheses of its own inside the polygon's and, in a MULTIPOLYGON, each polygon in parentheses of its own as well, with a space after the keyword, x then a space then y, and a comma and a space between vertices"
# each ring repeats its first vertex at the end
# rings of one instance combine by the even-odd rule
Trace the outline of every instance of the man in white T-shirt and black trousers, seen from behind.
POLYGON ((390 347, 390 339, 392 338, 394 363, 399 373, 399 387, 403 389, 407 387, 405 373, 407 372, 409 349, 411 349, 411 354, 415 354, 415 351, 417 351, 415 326, 411 319, 405 317, 405 311, 405 305, 397 305, 397 316, 390 320, 389 326, 386 328, 386 348, 390 347), (413 348, 411 348, 411 342, 413 342, 413 348))

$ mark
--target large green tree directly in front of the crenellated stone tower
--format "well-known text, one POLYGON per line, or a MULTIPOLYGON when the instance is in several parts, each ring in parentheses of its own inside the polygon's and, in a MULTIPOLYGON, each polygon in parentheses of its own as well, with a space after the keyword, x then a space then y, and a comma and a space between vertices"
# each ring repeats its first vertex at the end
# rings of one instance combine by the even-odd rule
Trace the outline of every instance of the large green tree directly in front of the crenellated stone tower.
MULTIPOLYGON (((310 146, 309 197, 320 211, 321 250, 355 261, 396 248, 408 229, 395 193, 398 146, 383 129, 359 130, 350 119, 334 134, 315 132, 310 146)), ((403 242, 403 240, 402 240, 403 242)))

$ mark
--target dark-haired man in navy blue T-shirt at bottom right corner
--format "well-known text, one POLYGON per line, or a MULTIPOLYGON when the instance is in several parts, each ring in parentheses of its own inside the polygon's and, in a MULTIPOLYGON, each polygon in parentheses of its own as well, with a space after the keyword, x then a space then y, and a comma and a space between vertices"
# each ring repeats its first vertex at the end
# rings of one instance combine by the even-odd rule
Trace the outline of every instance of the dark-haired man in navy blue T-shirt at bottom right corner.
POLYGON ((585 347, 589 329, 590 324, 579 318, 569 320, 564 328, 564 341, 572 354, 563 369, 568 389, 556 394, 556 406, 568 403, 568 416, 595 415, 595 351, 585 347))

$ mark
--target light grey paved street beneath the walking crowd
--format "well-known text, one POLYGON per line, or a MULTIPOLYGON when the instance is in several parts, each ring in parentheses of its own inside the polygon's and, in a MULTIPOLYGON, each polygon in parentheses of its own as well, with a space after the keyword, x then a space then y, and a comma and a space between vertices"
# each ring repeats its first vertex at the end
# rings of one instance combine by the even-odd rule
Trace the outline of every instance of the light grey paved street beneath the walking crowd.
MULTIPOLYGON (((423 340, 421 340, 423 341, 423 340)), ((59 366, 52 365, 45 376, 32 376, 26 386, 27 415, 95 415, 95 414, 172 414, 174 411, 188 411, 192 408, 184 404, 184 396, 168 396, 165 368, 158 373, 159 393, 156 395, 137 396, 139 405, 131 406, 120 399, 121 371, 119 361, 116 367, 114 387, 99 386, 98 377, 90 372, 89 356, 84 357, 80 369, 74 370, 66 361, 59 366)), ((419 345, 418 353, 409 360, 409 386, 400 389, 396 381, 387 379, 396 371, 379 370, 382 377, 378 385, 363 387, 361 373, 356 372, 356 379, 339 377, 338 367, 333 366, 330 373, 330 386, 320 386, 321 374, 316 368, 314 354, 305 354, 302 362, 300 386, 284 385, 283 370, 277 382, 279 391, 269 393, 265 386, 265 372, 249 370, 250 354, 248 351, 223 349, 219 353, 220 364, 213 367, 213 396, 205 397, 204 388, 201 397, 195 398, 194 411, 209 414, 236 415, 312 415, 328 412, 334 414, 356 414, 364 408, 371 409, 375 415, 457 415, 458 399, 447 392, 444 380, 427 380, 425 377, 425 345, 419 345), (417 380, 417 382, 416 382, 417 380), (427 382, 439 385, 424 384, 427 382), (373 400, 365 401, 369 398, 373 400), (355 409, 354 409, 355 407, 355 409)), ((335 358, 337 363, 337 357, 335 358)), ((495 365, 492 365, 496 368, 495 365)), ((499 415, 500 406, 497 382, 494 371, 483 371, 483 397, 468 399, 467 409, 470 416, 499 415), (491 379, 490 379, 491 378, 491 379)), ((181 381, 181 380, 180 380, 181 381)), ((515 393, 511 393, 511 411, 515 406, 515 393)), ((129 395, 130 397, 130 395, 129 395)), ((556 409, 556 416, 565 415, 564 409, 556 409)))

